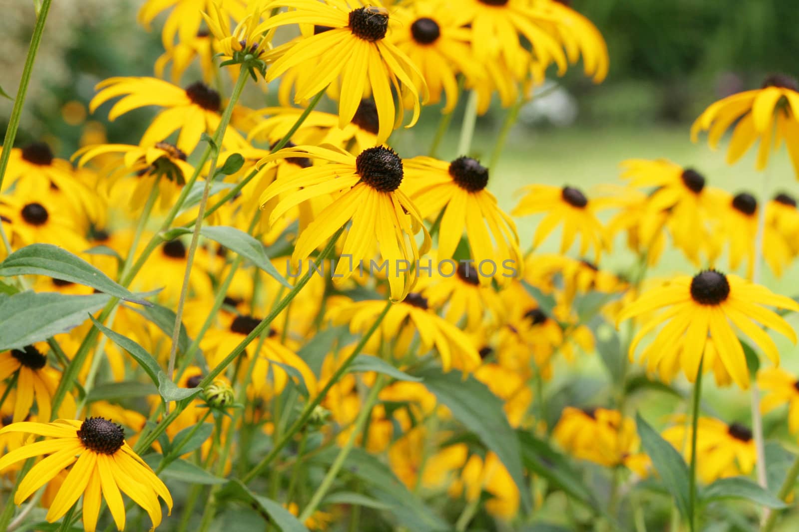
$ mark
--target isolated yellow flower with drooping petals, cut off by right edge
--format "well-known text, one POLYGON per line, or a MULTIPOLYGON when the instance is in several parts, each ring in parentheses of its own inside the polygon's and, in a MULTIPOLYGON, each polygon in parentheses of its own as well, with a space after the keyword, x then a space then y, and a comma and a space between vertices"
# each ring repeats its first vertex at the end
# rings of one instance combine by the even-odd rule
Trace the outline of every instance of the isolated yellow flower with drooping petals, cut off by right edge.
POLYGON ((698 140, 699 132, 708 132, 711 148, 727 129, 733 127, 729 140, 727 164, 734 164, 760 141, 756 167, 765 169, 772 151, 785 142, 793 168, 799 176, 799 85, 781 74, 766 78, 761 89, 733 94, 718 100, 691 126, 691 138, 698 140))

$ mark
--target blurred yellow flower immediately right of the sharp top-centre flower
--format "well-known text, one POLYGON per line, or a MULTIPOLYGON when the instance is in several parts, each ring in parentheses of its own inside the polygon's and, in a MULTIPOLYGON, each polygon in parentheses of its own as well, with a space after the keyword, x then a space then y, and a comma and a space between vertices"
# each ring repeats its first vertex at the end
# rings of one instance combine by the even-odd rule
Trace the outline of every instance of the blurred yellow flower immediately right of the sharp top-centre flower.
MULTIPOLYGON (((440 0, 400 6, 392 18, 398 28, 389 38, 422 73, 430 91, 428 103, 438 104, 444 94, 442 112, 451 112, 458 104, 458 75, 466 77, 468 85, 485 75, 471 49, 471 29, 459 26, 455 13, 440 0)), ((422 93, 423 83, 415 82, 422 93)))

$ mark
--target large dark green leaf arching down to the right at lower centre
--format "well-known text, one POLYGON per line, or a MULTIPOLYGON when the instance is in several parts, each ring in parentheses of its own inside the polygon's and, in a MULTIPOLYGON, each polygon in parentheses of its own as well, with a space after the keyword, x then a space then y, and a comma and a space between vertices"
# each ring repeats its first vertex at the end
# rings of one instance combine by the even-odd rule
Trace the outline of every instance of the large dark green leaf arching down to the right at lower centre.
POLYGON ((417 376, 423 378, 425 387, 451 410, 456 420, 495 452, 519 487, 523 506, 529 510, 530 491, 524 479, 519 439, 505 416, 503 401, 473 376, 463 379, 456 371, 443 373, 429 368, 417 376))

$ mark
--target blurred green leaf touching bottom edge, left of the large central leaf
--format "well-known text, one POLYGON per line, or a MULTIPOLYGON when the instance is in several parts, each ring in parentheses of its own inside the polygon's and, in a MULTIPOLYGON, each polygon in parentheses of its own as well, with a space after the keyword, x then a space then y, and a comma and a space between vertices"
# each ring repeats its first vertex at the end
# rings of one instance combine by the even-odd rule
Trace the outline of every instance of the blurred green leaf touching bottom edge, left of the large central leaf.
MULTIPOLYGON (((330 467, 339 450, 331 447, 314 458, 324 468, 330 467)), ((342 471, 359 479, 378 502, 391 507, 391 513, 408 530, 414 532, 450 532, 452 527, 427 507, 422 499, 396 478, 394 472, 375 455, 356 447, 350 451, 342 471)))

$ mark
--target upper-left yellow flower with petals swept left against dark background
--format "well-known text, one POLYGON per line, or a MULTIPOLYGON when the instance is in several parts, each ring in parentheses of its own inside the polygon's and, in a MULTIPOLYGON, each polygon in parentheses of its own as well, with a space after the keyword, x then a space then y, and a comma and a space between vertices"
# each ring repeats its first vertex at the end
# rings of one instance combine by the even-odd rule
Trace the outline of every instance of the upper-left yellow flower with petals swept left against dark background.
MULTIPOLYGON (((122 97, 109 110, 109 120, 147 105, 165 108, 149 124, 141 137, 141 146, 153 146, 180 130, 175 144, 182 152, 191 154, 202 134, 213 134, 221 121, 222 98, 202 81, 181 89, 154 77, 111 77, 97 84, 97 89, 100 92, 89 102, 91 112, 112 98, 122 97)), ((229 127, 222 145, 235 149, 246 147, 247 143, 239 132, 229 127)))

